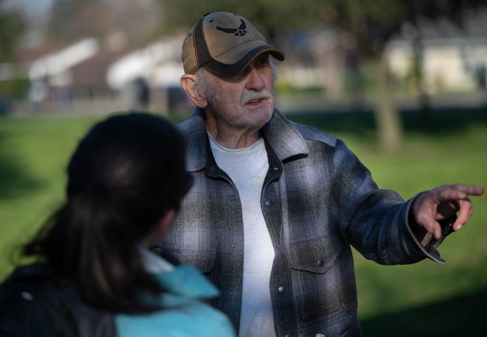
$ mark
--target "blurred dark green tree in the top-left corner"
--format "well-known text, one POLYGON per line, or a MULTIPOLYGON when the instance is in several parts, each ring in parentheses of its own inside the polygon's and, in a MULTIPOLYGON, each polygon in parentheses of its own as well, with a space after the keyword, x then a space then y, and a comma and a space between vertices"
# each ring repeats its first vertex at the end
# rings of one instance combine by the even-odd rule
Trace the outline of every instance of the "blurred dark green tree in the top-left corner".
POLYGON ((9 62, 16 58, 25 23, 19 12, 3 9, 4 3, 0 0, 0 62, 9 62))

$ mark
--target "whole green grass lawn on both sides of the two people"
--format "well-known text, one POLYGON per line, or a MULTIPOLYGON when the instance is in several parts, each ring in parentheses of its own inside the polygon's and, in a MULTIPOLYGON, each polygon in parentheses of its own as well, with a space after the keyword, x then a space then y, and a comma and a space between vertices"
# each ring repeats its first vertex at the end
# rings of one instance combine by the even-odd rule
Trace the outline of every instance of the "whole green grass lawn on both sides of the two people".
MULTIPOLYGON (((381 188, 404 198, 448 183, 487 187, 487 111, 435 112, 423 125, 406 113, 403 150, 377 151, 370 114, 300 114, 291 119, 336 134, 381 188)), ((0 279, 10 252, 60 205, 68 159, 101 117, 0 119, 0 279)), ((475 335, 487 332, 487 196, 473 198, 471 222, 440 247, 445 265, 425 260, 382 266, 355 254, 364 334, 475 335)))

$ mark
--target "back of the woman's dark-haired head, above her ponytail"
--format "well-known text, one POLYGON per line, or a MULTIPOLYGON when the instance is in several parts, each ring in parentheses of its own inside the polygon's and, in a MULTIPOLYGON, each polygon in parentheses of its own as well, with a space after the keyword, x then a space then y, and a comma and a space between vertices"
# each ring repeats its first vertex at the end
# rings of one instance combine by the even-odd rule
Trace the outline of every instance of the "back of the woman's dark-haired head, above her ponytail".
POLYGON ((179 207, 187 184, 176 128, 152 115, 120 115, 96 124, 80 142, 68 166, 67 198, 116 212, 118 221, 107 229, 139 240, 179 207))

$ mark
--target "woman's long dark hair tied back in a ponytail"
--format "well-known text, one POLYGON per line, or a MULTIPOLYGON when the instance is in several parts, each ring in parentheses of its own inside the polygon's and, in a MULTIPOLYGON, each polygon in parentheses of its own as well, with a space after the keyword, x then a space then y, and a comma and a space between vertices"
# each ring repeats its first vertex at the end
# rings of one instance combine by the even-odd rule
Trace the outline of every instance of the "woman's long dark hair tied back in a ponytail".
POLYGON ((163 289, 144 268, 138 243, 178 209, 190 179, 184 151, 177 129, 153 115, 96 124, 69 163, 66 204, 22 254, 45 259, 94 307, 147 311, 140 295, 163 289))

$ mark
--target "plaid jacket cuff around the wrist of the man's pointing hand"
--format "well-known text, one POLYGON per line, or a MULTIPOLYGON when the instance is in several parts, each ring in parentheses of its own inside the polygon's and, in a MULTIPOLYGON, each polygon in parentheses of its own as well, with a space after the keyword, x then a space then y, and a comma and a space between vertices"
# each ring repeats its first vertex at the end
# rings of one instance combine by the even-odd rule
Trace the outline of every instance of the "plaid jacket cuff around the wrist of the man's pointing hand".
POLYGON ((426 246, 421 245, 421 243, 416 238, 416 235, 414 235, 414 232, 411 229, 412 226, 419 226, 419 224, 417 224, 416 220, 414 219, 414 215, 412 213, 412 204, 414 203, 414 201, 416 200, 416 198, 419 195, 427 193, 427 192, 428 191, 420 192, 407 201, 407 204, 406 204, 407 210, 405 212, 405 214, 406 214, 405 223, 406 223, 406 227, 407 227, 407 230, 409 232, 409 235, 412 238, 412 241, 421 250, 421 252, 423 252, 431 260, 438 262, 438 263, 441 263, 441 264, 444 264, 445 260, 443 260, 441 258, 440 252, 438 251, 438 247, 441 245, 443 240, 450 233, 452 233, 454 231, 453 230, 453 223, 455 222, 455 220, 457 220, 457 215, 453 215, 449 218, 439 220, 438 222, 441 226, 441 237, 440 237, 440 239, 437 240, 433 236, 432 239, 430 240, 430 242, 426 246))

